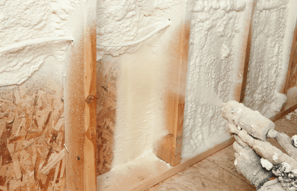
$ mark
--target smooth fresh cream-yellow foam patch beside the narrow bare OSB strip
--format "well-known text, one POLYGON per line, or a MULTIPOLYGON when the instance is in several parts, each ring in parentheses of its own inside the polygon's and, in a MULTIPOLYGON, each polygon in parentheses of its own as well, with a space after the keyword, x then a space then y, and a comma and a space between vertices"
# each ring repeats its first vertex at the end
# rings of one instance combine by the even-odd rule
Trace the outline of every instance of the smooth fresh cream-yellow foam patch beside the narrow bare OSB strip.
POLYGON ((142 46, 119 56, 117 118, 112 168, 135 159, 165 136, 162 131, 162 59, 152 55, 157 47, 142 46), (131 72, 133 71, 133 72, 131 72))

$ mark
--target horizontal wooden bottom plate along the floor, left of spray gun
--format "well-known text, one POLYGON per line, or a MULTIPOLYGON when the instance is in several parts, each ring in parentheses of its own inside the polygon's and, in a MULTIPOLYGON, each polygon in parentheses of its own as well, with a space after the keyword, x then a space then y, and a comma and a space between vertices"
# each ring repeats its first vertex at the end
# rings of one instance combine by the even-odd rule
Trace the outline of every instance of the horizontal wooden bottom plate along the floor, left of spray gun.
POLYGON ((198 154, 193 158, 181 159, 181 163, 175 167, 166 165, 166 163, 157 157, 141 158, 133 160, 113 171, 109 171, 97 176, 98 191, 143 191, 149 187, 167 179, 168 177, 184 170, 196 162, 208 157, 212 153, 232 144, 234 138, 214 146, 213 148, 198 154))

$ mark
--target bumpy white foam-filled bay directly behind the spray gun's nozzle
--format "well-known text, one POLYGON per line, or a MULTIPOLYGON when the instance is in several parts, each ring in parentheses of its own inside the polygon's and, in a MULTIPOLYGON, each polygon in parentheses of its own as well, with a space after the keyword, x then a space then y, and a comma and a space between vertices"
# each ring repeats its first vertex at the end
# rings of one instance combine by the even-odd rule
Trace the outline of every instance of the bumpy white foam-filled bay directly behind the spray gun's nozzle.
POLYGON ((226 102, 238 99, 240 95, 244 61, 241 54, 245 55, 241 50, 247 43, 248 28, 245 25, 249 23, 251 2, 195 1, 182 157, 194 157, 230 138, 218 104, 222 105, 220 100, 226 102))

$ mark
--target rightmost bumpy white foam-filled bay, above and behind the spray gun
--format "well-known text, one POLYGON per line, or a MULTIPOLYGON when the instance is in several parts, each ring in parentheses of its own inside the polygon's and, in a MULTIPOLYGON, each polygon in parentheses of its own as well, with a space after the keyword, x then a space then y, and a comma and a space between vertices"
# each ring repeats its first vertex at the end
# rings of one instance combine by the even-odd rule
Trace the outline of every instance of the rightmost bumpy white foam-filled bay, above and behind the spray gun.
POLYGON ((244 105, 268 118, 286 101, 282 93, 296 17, 296 1, 256 3, 244 105))

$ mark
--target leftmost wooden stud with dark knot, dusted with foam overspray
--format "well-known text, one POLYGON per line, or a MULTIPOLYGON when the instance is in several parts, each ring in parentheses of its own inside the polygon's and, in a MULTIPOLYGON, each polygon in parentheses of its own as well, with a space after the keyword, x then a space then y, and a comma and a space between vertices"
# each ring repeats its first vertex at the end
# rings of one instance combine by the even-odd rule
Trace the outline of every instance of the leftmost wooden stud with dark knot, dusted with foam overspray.
POLYGON ((64 80, 67 190, 96 190, 96 23, 75 42, 64 80))

